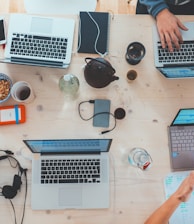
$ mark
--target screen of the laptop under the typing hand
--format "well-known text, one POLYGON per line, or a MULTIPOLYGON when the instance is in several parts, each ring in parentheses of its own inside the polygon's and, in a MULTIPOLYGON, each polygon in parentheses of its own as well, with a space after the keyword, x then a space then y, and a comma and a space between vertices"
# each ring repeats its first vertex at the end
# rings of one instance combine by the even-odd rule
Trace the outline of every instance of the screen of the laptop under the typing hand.
POLYGON ((194 66, 188 67, 163 67, 158 68, 158 70, 166 77, 166 78, 192 78, 194 77, 194 66))

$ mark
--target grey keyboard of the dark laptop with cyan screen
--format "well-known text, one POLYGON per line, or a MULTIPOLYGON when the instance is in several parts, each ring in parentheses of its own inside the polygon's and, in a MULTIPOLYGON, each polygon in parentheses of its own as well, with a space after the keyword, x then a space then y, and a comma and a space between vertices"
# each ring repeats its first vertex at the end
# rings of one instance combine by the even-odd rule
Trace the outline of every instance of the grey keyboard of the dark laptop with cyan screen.
POLYGON ((194 150, 194 129, 171 129, 171 142, 173 151, 194 150))

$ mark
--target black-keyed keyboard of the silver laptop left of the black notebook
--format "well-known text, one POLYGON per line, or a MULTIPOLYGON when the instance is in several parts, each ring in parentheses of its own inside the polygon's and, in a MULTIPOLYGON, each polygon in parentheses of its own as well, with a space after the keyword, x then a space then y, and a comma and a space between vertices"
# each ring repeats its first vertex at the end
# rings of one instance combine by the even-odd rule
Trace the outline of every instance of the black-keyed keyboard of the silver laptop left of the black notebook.
POLYGON ((10 54, 64 60, 67 41, 67 38, 13 33, 10 54))

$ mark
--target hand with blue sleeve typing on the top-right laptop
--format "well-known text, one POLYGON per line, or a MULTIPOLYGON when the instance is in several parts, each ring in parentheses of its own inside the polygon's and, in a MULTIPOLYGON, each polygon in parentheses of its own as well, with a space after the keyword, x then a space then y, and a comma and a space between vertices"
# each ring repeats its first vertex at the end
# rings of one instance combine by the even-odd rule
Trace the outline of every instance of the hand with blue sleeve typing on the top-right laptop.
POLYGON ((186 31, 188 30, 187 27, 168 9, 164 9, 158 13, 156 23, 162 47, 166 48, 167 45, 169 51, 172 52, 174 44, 179 49, 180 43, 183 42, 180 29, 186 31))

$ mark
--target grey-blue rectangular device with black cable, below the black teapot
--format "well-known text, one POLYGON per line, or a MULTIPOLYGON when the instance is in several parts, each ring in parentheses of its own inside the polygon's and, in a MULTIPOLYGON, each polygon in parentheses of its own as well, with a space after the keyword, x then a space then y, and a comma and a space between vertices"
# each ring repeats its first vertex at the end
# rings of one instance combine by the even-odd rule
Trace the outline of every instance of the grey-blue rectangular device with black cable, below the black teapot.
POLYGON ((94 127, 109 127, 110 100, 96 99, 94 101, 94 127))

